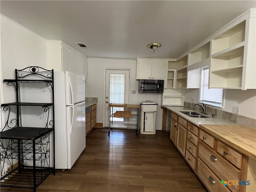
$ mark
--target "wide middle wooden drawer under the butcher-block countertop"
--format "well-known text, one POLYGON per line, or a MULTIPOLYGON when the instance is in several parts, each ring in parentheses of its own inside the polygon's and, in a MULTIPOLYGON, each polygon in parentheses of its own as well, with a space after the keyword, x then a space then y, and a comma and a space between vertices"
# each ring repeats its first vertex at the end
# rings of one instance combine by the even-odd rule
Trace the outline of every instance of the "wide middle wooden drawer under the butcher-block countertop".
MULTIPOLYGON (((198 156, 218 178, 224 181, 240 180, 240 171, 202 142, 199 143, 198 156)), ((230 185, 228 188, 233 192, 238 191, 237 185, 230 185)))

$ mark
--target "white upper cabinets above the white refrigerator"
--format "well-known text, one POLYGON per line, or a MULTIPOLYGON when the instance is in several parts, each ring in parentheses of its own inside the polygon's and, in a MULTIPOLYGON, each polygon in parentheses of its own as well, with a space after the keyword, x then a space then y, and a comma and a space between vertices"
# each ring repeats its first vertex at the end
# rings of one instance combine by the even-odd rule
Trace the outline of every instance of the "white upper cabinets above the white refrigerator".
POLYGON ((86 72, 87 80, 86 56, 61 41, 48 41, 47 49, 49 68, 54 71, 70 71, 78 75, 84 75, 86 72))

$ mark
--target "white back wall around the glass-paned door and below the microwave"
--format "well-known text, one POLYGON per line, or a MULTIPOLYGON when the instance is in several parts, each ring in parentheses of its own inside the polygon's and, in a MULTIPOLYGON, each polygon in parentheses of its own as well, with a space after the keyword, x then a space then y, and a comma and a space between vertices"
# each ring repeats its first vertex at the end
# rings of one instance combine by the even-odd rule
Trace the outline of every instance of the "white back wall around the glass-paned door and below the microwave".
POLYGON ((129 104, 140 104, 146 100, 158 104, 156 113, 156 129, 162 130, 162 109, 160 108, 162 94, 149 94, 138 92, 138 80, 136 80, 136 60, 126 59, 101 59, 88 58, 88 82, 86 82, 86 97, 98 97, 97 122, 104 123, 104 70, 105 69, 130 69, 130 93, 129 104), (132 94, 136 90, 136 94, 132 94))

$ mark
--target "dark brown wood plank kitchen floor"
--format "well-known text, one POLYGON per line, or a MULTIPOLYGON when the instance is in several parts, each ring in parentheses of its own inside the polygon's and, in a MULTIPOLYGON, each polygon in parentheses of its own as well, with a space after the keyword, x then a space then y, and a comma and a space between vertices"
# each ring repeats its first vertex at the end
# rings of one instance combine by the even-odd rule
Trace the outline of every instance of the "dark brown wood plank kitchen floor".
MULTIPOLYGON (((32 192, 1 187, 1 192, 32 192)), ((72 169, 56 170, 37 192, 205 192, 166 131, 94 128, 72 169)))

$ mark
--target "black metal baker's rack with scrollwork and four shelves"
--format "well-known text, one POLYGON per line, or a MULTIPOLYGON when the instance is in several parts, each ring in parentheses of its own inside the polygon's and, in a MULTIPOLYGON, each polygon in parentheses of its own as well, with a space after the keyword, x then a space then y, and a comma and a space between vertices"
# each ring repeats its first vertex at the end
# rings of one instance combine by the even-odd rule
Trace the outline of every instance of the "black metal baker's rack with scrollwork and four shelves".
POLYGON ((5 79, 16 91, 16 102, 1 104, 6 123, 0 134, 1 186, 31 188, 50 174, 55 175, 54 72, 38 66, 15 69, 15 79, 5 79), (20 101, 21 83, 44 83, 52 92, 51 103, 20 101), (16 118, 10 118, 16 106, 16 118), (21 106, 42 107, 45 127, 21 126, 21 106))

